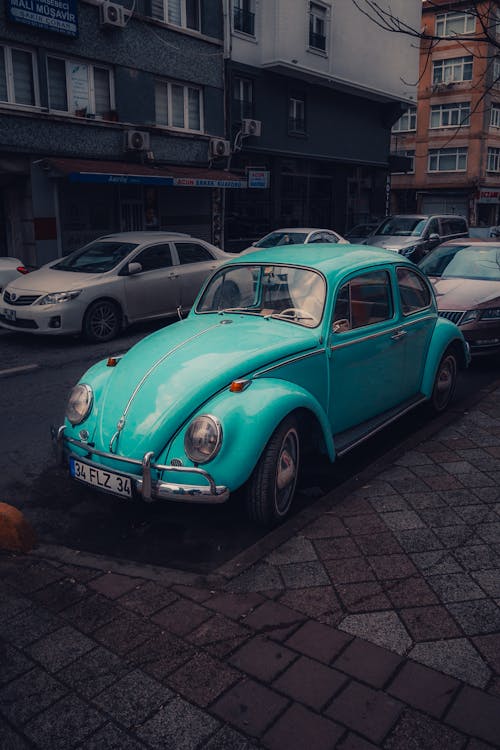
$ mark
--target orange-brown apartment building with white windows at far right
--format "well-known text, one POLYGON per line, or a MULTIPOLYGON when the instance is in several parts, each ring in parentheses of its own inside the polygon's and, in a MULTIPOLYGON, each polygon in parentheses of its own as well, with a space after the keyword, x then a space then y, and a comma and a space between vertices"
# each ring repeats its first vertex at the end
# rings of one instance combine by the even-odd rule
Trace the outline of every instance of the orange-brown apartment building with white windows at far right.
MULTIPOLYGON (((476 6, 494 34, 497 4, 476 6)), ((422 41, 417 105, 393 128, 392 150, 411 168, 392 175, 392 207, 457 213, 480 226, 500 221, 500 49, 484 41, 469 9, 423 3, 422 27, 440 41, 422 41)))

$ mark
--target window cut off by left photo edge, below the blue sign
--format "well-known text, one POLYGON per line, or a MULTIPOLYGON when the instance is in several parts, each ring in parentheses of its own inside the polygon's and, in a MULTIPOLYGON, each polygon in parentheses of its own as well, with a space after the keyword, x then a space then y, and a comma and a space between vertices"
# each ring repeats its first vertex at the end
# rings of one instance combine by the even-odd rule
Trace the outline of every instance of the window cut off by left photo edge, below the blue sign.
POLYGON ((35 58, 29 50, 0 46, 0 102, 38 105, 35 58))

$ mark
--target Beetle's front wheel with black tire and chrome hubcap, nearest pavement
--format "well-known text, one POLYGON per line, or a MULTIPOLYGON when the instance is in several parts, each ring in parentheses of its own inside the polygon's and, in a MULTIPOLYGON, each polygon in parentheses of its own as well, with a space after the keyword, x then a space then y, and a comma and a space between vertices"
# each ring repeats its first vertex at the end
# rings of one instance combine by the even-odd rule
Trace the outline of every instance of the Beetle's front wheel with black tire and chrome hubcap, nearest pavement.
POLYGON ((299 466, 299 430, 295 417, 289 416, 271 435, 248 481, 245 504, 252 521, 268 527, 284 521, 295 494, 299 466))

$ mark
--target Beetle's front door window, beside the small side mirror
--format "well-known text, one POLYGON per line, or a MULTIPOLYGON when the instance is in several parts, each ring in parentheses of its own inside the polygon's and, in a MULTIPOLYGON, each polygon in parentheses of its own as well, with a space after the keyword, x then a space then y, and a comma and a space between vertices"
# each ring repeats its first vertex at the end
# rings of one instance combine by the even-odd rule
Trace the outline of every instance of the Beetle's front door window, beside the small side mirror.
POLYGON ((339 291, 333 316, 333 332, 381 323, 392 318, 389 274, 372 271, 351 279, 339 291))

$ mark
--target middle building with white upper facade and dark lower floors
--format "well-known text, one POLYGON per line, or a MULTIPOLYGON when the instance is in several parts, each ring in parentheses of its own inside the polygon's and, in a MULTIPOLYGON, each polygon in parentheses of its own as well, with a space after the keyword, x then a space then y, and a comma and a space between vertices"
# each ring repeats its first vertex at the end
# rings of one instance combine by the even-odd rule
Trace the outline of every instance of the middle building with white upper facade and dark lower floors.
MULTIPOLYGON (((231 169, 261 185, 226 193, 228 247, 280 226, 342 232, 383 216, 391 127, 416 98, 415 45, 351 0, 225 7, 231 169)), ((391 8, 418 27, 420 0, 391 8)))

